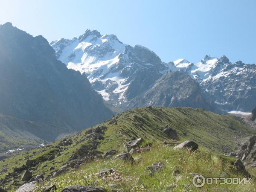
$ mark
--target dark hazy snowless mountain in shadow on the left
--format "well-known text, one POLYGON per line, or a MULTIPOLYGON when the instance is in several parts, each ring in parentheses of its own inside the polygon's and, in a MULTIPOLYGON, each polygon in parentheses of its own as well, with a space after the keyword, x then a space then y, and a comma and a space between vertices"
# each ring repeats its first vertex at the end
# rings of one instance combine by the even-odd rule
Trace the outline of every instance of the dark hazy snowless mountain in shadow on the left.
POLYGON ((48 41, 0 25, 0 113, 81 130, 108 119, 86 76, 58 61, 48 41))

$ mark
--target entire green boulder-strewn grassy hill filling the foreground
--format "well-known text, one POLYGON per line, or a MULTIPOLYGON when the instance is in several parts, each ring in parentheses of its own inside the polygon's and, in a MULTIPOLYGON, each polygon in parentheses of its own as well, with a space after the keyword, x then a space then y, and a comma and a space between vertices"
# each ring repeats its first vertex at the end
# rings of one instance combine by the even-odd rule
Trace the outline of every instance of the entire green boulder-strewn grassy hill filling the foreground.
MULTIPOLYGON (((255 134, 255 131, 235 116, 218 115, 203 109, 192 108, 136 108, 120 113, 93 128, 98 126, 106 128, 102 134, 91 134, 90 129, 87 129, 65 140, 55 141, 45 147, 6 159, 4 162, 0 161, 0 171, 8 168, 0 175, 0 181, 6 178, 9 180, 3 185, 9 191, 17 188, 23 183, 20 177, 27 169, 23 165, 29 159, 33 162, 29 169, 32 174, 34 176, 44 174, 47 178, 46 182, 56 184, 58 190, 76 183, 101 185, 111 189, 108 184, 112 181, 105 182, 98 178, 99 181, 93 183, 96 181, 95 172, 101 168, 117 170, 116 173, 119 175, 116 177, 120 177, 120 180, 114 180, 113 183, 121 185, 119 188, 124 191, 142 191, 143 189, 163 191, 163 189, 167 190, 167 185, 172 183, 175 187, 177 186, 177 189, 184 188, 186 185, 192 187, 190 179, 192 177, 189 173, 215 177, 221 176, 220 174, 224 172, 231 176, 237 175, 232 171, 231 166, 234 159, 223 157, 221 154, 236 149, 239 138, 255 134), (163 145, 165 140, 169 141, 169 137, 162 132, 166 126, 177 131, 179 142, 193 140, 198 143, 199 150, 190 153, 186 150, 174 150, 173 145, 163 145), (144 142, 140 145, 151 146, 150 151, 133 154, 135 158, 133 165, 124 163, 122 160, 102 159, 102 155, 110 150, 117 150, 117 154, 127 151, 128 149, 124 148, 124 142, 131 140, 131 137, 143 138, 144 142), (48 160, 53 154, 55 158, 48 160), (91 157, 95 157, 96 160, 91 161, 91 157), (153 177, 148 176, 145 166, 159 161, 166 164, 165 169, 153 177), (70 173, 61 174, 61 166, 64 165, 67 165, 66 171, 75 169, 70 173), (17 171, 17 168, 20 171, 17 171), (175 168, 179 169, 180 179, 177 175, 172 176, 175 168), (54 173, 56 176, 52 178, 54 173), (130 189, 129 186, 132 188, 130 189)), ((240 189, 239 187, 241 186, 232 186, 235 191, 240 189)), ((187 191, 189 190, 190 188, 187 191)))

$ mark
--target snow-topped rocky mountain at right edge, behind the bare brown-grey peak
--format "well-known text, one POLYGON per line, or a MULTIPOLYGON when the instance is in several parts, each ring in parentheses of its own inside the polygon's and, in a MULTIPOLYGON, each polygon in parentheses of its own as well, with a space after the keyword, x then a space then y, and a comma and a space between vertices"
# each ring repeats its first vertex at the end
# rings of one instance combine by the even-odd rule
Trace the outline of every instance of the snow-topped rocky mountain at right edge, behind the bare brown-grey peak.
POLYGON ((256 65, 231 63, 226 56, 206 55, 197 64, 184 59, 174 62, 198 81, 207 98, 226 111, 252 111, 256 105, 256 65))

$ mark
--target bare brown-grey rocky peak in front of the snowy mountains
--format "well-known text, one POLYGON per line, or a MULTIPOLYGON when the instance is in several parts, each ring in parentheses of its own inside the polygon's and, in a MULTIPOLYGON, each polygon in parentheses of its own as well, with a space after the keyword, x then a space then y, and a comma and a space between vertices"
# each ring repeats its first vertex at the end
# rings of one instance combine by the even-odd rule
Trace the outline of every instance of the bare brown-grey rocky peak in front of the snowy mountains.
POLYGON ((129 107, 153 105, 164 107, 192 107, 214 111, 205 101, 199 84, 181 71, 166 72, 154 85, 132 99, 129 107))

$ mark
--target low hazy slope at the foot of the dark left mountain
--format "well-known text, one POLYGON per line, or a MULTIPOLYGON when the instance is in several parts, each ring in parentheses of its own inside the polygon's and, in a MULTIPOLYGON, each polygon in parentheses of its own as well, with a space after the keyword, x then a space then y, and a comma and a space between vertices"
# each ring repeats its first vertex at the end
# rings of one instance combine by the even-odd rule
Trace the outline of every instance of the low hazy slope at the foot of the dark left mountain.
POLYGON ((54 141, 60 134, 74 132, 68 128, 27 121, 0 113, 0 152, 27 145, 54 141))

